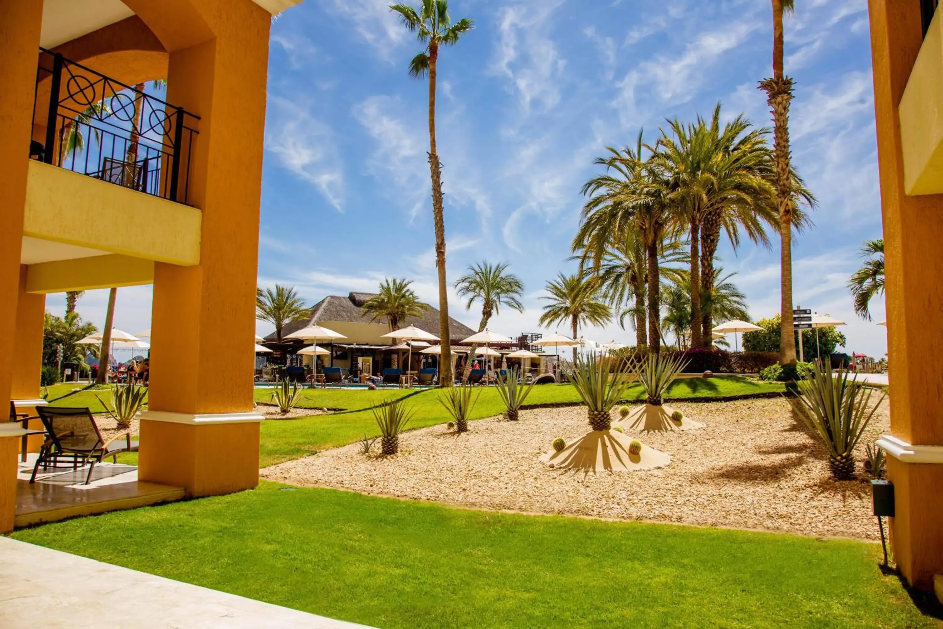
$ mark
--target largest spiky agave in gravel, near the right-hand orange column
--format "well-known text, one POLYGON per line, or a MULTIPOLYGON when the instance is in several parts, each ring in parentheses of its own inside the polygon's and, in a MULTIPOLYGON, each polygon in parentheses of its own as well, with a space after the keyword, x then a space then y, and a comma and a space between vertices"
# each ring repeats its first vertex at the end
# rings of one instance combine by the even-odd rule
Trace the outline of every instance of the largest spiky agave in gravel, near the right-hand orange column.
POLYGON ((835 480, 854 478, 854 446, 858 444, 877 407, 868 409, 871 389, 849 374, 832 375, 832 365, 825 369, 817 363, 805 380, 796 383, 799 396, 789 404, 816 439, 828 451, 828 464, 835 480))

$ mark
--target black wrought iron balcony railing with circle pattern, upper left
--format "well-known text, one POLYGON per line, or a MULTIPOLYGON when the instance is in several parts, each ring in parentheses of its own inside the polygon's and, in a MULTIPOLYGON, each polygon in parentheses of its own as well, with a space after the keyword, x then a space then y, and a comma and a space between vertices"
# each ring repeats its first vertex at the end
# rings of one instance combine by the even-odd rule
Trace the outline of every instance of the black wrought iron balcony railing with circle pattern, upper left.
POLYGON ((44 48, 30 157, 179 203, 200 117, 44 48))

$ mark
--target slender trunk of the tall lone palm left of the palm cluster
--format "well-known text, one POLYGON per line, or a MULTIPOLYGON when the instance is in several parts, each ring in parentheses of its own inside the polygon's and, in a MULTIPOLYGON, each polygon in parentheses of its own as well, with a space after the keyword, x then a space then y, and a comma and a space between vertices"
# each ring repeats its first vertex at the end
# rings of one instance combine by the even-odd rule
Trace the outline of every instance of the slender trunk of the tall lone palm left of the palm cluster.
POLYGON ((451 387, 452 339, 449 338, 449 285, 445 278, 445 216, 442 208, 442 165, 436 151, 436 61, 438 42, 429 43, 429 172, 432 176, 432 216, 436 225, 438 271, 438 335, 441 338, 438 382, 451 387))

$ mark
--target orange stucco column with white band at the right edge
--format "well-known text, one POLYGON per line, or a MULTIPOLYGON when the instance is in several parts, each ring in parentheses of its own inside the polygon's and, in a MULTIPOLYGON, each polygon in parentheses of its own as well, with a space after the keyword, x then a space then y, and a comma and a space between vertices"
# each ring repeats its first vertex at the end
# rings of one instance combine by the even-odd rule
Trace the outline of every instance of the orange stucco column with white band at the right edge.
POLYGON ((869 0, 869 13, 892 391, 891 435, 879 443, 895 487, 894 556, 911 585, 929 589, 943 573, 943 373, 928 362, 943 352, 943 195, 903 188, 898 106, 922 43, 919 3, 869 0))

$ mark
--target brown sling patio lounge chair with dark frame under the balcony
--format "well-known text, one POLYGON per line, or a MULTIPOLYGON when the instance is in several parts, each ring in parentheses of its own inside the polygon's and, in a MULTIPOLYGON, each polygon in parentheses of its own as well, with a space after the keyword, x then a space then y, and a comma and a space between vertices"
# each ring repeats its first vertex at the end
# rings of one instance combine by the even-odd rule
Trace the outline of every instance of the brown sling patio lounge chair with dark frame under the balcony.
POLYGON ((109 456, 117 461, 124 452, 138 452, 138 442, 131 440, 131 433, 124 432, 106 440, 91 416, 88 408, 64 406, 41 406, 37 408, 42 425, 46 428, 46 441, 40 448, 40 455, 33 467, 30 483, 36 482, 36 472, 43 468, 58 467, 61 459, 71 462, 73 469, 79 464, 89 466, 85 484, 91 482, 91 472, 95 463, 101 463, 109 456))

